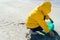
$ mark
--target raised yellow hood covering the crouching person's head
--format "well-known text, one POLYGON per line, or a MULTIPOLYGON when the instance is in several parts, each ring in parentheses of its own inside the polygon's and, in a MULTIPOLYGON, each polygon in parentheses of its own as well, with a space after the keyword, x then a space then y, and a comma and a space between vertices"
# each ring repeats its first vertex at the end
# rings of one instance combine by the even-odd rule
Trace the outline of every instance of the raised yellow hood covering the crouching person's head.
POLYGON ((42 5, 38 7, 38 10, 42 11, 44 15, 47 15, 49 12, 51 12, 51 3, 44 2, 42 5))

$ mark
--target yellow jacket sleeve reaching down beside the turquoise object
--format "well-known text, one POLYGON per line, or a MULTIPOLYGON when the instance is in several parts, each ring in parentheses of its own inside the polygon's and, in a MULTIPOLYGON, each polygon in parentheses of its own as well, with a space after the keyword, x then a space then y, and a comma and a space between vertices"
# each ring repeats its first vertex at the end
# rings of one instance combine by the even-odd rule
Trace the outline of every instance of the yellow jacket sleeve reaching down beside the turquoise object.
POLYGON ((49 32, 49 29, 48 29, 48 26, 46 24, 46 22, 41 19, 42 17, 39 17, 39 16, 35 16, 35 20, 37 21, 37 23, 42 27, 42 29, 44 30, 45 33, 48 33, 49 32))

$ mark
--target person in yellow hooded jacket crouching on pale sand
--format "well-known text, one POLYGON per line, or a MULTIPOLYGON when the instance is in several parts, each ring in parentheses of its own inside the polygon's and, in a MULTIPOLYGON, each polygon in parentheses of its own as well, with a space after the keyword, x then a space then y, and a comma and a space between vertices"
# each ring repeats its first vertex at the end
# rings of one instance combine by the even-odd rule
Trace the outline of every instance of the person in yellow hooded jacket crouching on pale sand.
MULTIPOLYGON (((45 35, 54 36, 54 33, 48 29, 48 25, 45 22, 45 19, 51 19, 49 13, 51 12, 51 3, 43 2, 42 5, 36 7, 26 20, 26 28, 30 29, 30 40, 37 40, 36 31, 40 31, 45 35)), ((52 21, 53 22, 53 21, 52 21)))

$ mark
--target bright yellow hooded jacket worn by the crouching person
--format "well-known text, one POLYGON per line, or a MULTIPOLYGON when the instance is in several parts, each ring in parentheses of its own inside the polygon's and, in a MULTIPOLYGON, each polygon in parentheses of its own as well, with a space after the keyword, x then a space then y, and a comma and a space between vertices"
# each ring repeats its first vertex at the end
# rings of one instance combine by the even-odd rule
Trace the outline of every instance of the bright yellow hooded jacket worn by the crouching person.
POLYGON ((44 20, 44 15, 49 19, 48 13, 51 11, 51 3, 44 2, 42 5, 36 7, 32 12, 30 12, 27 20, 26 27, 33 29, 41 26, 44 32, 48 33, 49 29, 44 20))

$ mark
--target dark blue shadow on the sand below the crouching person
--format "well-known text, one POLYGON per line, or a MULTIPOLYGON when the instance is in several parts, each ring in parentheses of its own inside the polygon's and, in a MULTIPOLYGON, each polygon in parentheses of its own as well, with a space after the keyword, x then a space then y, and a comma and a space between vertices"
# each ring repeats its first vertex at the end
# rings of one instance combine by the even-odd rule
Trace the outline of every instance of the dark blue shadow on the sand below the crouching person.
POLYGON ((45 35, 41 35, 41 34, 37 34, 37 35, 31 35, 31 39, 30 40, 60 40, 60 36, 56 31, 53 31, 54 37, 48 37, 45 35))

